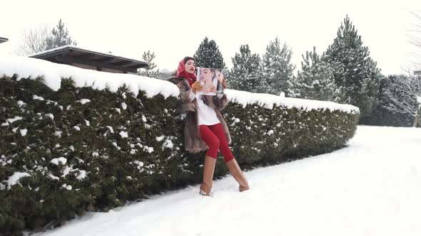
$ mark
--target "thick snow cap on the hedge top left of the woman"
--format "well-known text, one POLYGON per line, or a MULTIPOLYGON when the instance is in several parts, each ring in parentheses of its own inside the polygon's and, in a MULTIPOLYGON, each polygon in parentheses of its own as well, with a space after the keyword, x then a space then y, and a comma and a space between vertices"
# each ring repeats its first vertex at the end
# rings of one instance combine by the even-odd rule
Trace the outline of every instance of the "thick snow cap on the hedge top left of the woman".
POLYGON ((77 87, 91 86, 98 90, 103 90, 108 85, 111 91, 116 92, 118 87, 126 84, 135 95, 138 95, 139 90, 145 91, 148 97, 158 94, 164 97, 178 97, 179 94, 176 85, 150 77, 106 73, 97 70, 76 68, 71 65, 51 63, 47 60, 36 58, 1 55, 0 76, 7 75, 11 77, 14 74, 17 74, 19 78, 31 77, 32 79, 44 75, 46 85, 55 91, 60 88, 61 78, 71 77, 76 82, 77 87))

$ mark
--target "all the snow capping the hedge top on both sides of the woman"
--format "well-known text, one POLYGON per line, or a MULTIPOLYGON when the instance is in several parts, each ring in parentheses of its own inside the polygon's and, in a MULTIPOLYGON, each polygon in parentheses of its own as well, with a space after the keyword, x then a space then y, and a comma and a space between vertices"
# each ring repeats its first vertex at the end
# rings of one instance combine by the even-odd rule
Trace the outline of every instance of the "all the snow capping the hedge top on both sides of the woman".
MULTIPOLYGON (((138 95, 138 90, 146 92, 146 96, 153 97, 161 94, 164 97, 177 97, 179 92, 176 85, 165 80, 156 80, 151 77, 143 77, 130 74, 105 73, 96 70, 76 68, 70 65, 51 63, 46 60, 36 58, 25 58, 17 56, 2 55, 0 57, 0 77, 2 75, 13 76, 17 74, 19 78, 36 78, 44 75, 46 85, 52 90, 59 90, 61 78, 71 77, 77 87, 91 86, 98 90, 103 90, 106 85, 111 91, 116 92, 123 84, 129 86, 134 95, 138 95)), ((316 100, 304 100, 268 94, 256 94, 238 90, 225 90, 230 102, 238 102, 245 107, 247 104, 259 104, 268 109, 273 108, 273 104, 284 105, 285 107, 298 109, 330 109, 341 110, 343 112, 360 112, 357 107, 349 104, 338 104, 335 102, 324 102, 316 100)), ((82 101, 81 101, 82 102, 82 101)), ((86 102, 86 101, 83 101, 86 102)), ((123 107, 124 109, 124 107, 123 107)))

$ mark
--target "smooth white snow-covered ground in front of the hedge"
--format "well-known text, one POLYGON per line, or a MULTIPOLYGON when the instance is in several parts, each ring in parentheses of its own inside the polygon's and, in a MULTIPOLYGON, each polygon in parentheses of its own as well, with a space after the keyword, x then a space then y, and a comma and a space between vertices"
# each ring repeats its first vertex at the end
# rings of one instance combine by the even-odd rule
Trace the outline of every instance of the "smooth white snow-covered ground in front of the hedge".
MULTIPOLYGON (((358 127, 345 149, 92 213, 40 235, 421 235, 421 129, 358 127)), ((220 160, 219 160, 220 161, 220 160)))

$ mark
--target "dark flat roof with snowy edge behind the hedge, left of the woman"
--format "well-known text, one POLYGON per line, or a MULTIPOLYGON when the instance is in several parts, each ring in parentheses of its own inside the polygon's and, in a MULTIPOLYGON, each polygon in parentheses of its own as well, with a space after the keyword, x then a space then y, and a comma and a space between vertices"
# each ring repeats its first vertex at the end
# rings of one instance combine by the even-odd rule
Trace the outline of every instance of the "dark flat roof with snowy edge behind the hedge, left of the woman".
POLYGON ((78 48, 73 45, 66 45, 60 48, 46 50, 41 53, 29 55, 29 57, 49 60, 53 63, 78 63, 131 73, 136 73, 138 68, 148 67, 148 63, 143 60, 123 58, 109 53, 98 53, 92 50, 78 48))

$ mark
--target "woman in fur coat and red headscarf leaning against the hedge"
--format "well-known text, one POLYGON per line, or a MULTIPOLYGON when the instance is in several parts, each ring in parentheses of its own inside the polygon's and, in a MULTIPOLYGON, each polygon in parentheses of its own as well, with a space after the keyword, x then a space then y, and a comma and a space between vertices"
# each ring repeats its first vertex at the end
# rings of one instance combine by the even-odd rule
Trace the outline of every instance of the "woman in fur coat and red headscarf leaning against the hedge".
MULTIPOLYGON (((220 114, 228 104, 227 97, 223 95, 219 99, 217 96, 196 95, 196 92, 203 88, 201 83, 196 81, 195 71, 196 61, 186 57, 178 64, 177 77, 171 77, 169 81, 180 89, 180 112, 186 114, 184 125, 186 151, 198 153, 207 150, 203 166, 203 183, 199 193, 210 195, 218 150, 228 170, 238 182, 238 190, 246 191, 249 188, 248 182, 228 147, 231 137, 228 126, 220 114)), ((223 85, 226 88, 225 80, 223 85)))

